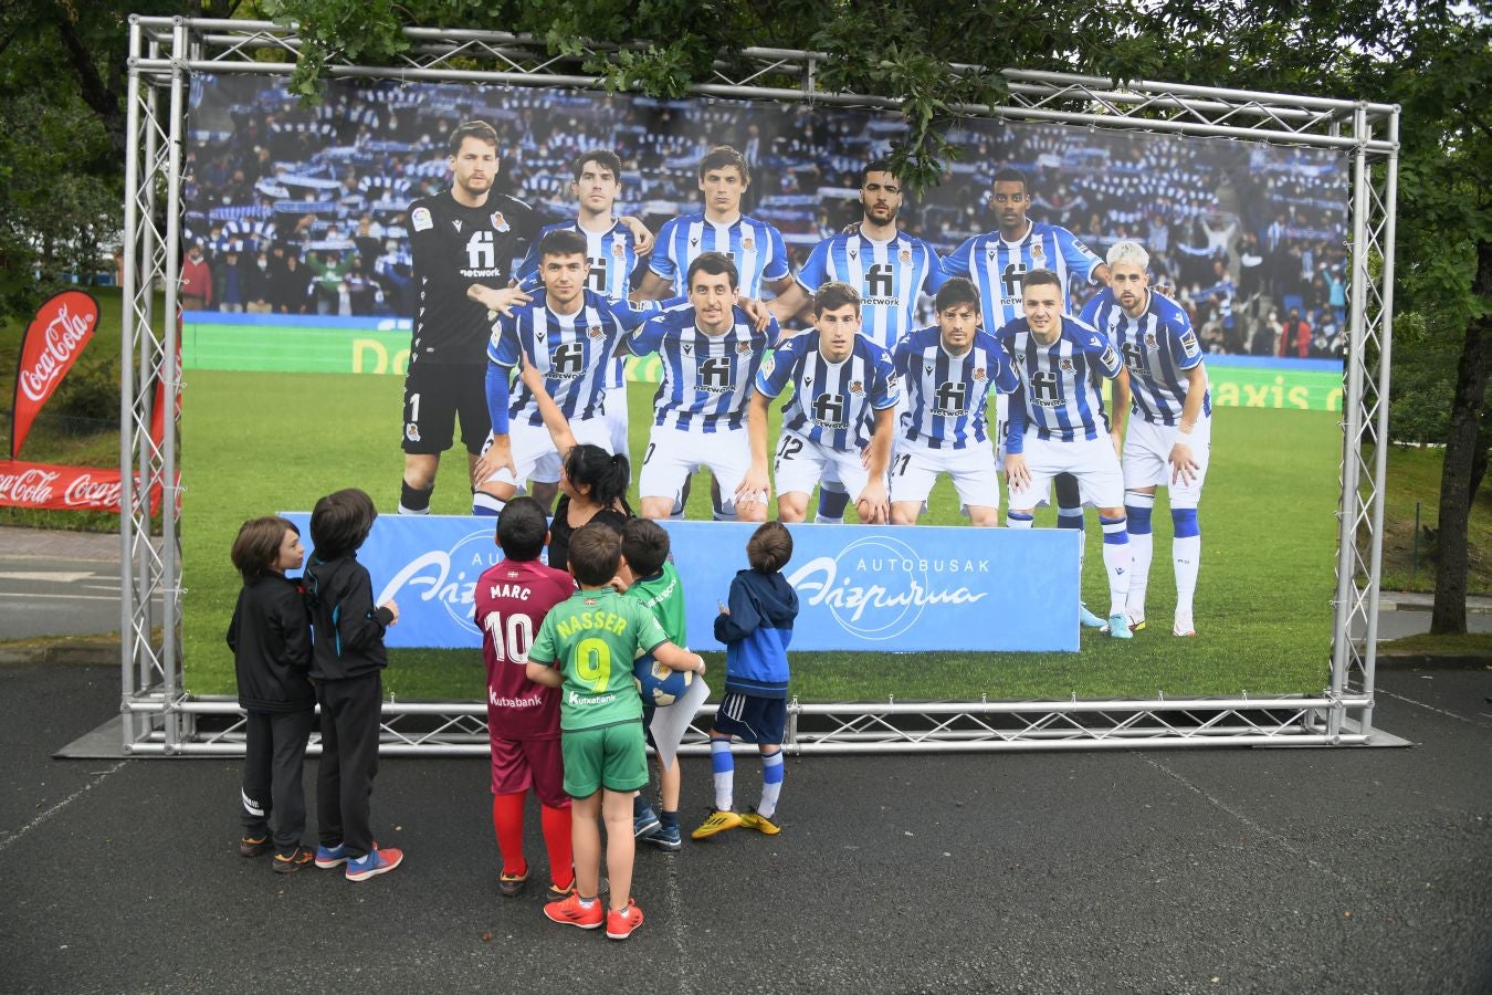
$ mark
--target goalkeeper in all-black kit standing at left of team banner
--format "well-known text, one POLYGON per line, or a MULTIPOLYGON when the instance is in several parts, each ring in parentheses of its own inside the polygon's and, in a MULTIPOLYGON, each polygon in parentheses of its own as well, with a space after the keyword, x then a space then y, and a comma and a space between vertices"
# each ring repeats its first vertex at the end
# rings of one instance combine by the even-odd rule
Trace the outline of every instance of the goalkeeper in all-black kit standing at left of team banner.
POLYGON ((528 303, 512 283, 539 219, 521 200, 492 191, 497 131, 468 121, 451 134, 451 189, 410 204, 415 258, 415 333, 404 374, 404 482, 401 515, 428 515, 440 453, 455 422, 467 449, 467 479, 486 442, 486 342, 489 310, 528 303))

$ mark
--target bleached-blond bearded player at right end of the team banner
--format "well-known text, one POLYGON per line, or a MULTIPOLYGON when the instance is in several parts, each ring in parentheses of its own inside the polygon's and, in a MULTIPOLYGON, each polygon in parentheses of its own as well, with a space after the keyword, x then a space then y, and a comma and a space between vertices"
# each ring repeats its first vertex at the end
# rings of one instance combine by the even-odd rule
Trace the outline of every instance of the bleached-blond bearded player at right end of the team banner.
MULTIPOLYGON (((1128 368, 1134 418, 1123 440, 1125 512, 1129 521, 1126 615, 1131 630, 1144 628, 1144 592, 1150 582, 1155 488, 1171 501, 1171 565, 1176 571, 1176 621, 1171 633, 1197 635, 1192 595, 1203 552, 1197 504, 1212 452, 1212 397, 1207 367, 1186 312, 1150 291, 1150 254, 1137 242, 1109 249, 1109 289, 1083 309, 1083 321, 1109 334, 1128 368)), ((1125 383, 1115 391, 1115 418, 1122 418, 1125 383)))

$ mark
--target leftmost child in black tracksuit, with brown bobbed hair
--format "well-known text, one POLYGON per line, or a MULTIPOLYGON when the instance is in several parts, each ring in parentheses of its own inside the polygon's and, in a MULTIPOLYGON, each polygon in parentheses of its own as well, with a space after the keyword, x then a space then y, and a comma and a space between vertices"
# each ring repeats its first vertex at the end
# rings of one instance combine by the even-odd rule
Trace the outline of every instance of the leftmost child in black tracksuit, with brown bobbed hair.
POLYGON ((312 859, 300 844, 306 831, 300 776, 316 721, 316 691, 306 679, 310 619, 298 583, 285 576, 300 570, 306 549, 300 530, 270 515, 239 528, 230 556, 243 589, 228 622, 228 649, 239 677, 239 707, 248 713, 239 853, 258 856, 273 849, 273 868, 289 874, 312 859))

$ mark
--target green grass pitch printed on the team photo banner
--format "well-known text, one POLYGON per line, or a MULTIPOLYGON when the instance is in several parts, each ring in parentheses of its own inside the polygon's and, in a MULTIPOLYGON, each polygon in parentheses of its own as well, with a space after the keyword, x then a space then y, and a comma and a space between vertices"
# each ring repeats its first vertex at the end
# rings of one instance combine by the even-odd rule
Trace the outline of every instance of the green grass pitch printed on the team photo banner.
MULTIPOLYGON (((185 382, 185 682, 194 694, 233 694, 224 633, 239 591, 228 562, 239 525, 255 515, 309 510, 319 495, 345 486, 366 489, 382 513, 392 513, 403 468, 397 421, 403 377, 188 370, 185 382)), ((633 453, 646 445, 651 397, 651 385, 631 385, 633 453)), ((1320 692, 1331 655, 1338 419, 1250 407, 1214 413, 1201 504, 1197 638, 1171 635, 1171 525, 1162 491, 1147 598, 1152 624, 1134 640, 1088 631, 1077 653, 801 652, 792 659, 794 694, 804 701, 885 701, 888 695, 898 701, 1024 701, 1320 692)), ((458 451, 448 453, 436 513, 470 512, 464 464, 458 451)), ((689 518, 709 518, 707 486, 694 489, 689 518)), ((947 480, 938 482, 922 521, 959 524, 947 480)), ((1037 516, 1038 527, 1052 521, 1050 510, 1037 516)), ((970 542, 977 536, 971 530, 970 542)), ((1083 592, 1100 610, 1107 606, 1092 515, 1083 592)), ((970 624, 977 625, 977 616, 970 624)), ((480 700, 480 650, 474 644, 470 650, 392 650, 385 685, 400 700, 480 700)))

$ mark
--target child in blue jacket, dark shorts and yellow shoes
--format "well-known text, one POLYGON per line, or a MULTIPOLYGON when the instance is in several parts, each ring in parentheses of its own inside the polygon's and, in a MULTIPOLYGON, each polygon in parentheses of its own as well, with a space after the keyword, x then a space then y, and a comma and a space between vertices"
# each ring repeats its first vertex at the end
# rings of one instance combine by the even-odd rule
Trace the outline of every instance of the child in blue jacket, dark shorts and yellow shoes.
POLYGON ((746 826, 767 835, 782 831, 773 816, 782 795, 782 734, 788 724, 788 643, 798 618, 798 594, 782 576, 792 559, 792 536, 767 522, 746 543, 750 570, 731 580, 730 601, 715 619, 715 638, 725 643, 725 697, 710 726, 715 810, 691 832, 706 840, 746 826), (745 814, 733 812, 736 764, 731 737, 761 750, 761 801, 745 814))

